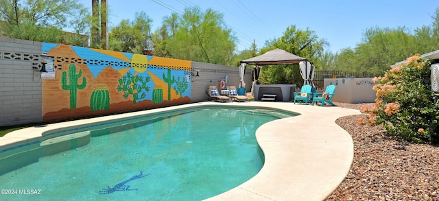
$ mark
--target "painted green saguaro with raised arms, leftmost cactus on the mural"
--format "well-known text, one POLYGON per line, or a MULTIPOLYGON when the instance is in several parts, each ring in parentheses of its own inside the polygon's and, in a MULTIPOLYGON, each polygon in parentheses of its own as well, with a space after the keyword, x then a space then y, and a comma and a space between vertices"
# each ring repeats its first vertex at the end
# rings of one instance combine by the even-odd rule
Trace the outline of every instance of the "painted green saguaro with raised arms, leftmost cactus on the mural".
POLYGON ((76 66, 75 64, 70 64, 69 66, 69 84, 67 84, 67 72, 63 71, 61 76, 61 86, 62 90, 69 90, 70 91, 70 108, 75 109, 76 108, 76 100, 77 100, 77 94, 78 89, 84 89, 87 82, 86 78, 82 77, 82 84, 78 84, 78 79, 82 75, 82 70, 80 69, 79 73, 76 74, 76 66))

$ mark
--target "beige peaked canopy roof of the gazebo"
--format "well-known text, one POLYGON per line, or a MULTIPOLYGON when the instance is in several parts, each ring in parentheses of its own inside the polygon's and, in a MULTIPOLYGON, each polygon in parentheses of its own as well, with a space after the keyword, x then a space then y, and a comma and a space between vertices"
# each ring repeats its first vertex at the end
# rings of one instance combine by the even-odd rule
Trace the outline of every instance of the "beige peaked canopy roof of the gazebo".
POLYGON ((241 63, 261 66, 274 64, 298 64, 300 61, 307 61, 307 58, 296 56, 283 49, 273 49, 265 52, 265 54, 241 60, 241 63))

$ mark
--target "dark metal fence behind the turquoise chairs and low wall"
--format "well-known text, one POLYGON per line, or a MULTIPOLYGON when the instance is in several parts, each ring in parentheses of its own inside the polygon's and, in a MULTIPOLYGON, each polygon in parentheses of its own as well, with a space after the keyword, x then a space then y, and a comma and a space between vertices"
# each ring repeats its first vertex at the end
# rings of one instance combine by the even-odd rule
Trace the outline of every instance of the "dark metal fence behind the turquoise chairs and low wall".
POLYGON ((357 73, 348 71, 316 71, 314 73, 314 84, 316 88, 322 89, 324 87, 324 78, 373 78, 377 75, 371 73, 357 73))

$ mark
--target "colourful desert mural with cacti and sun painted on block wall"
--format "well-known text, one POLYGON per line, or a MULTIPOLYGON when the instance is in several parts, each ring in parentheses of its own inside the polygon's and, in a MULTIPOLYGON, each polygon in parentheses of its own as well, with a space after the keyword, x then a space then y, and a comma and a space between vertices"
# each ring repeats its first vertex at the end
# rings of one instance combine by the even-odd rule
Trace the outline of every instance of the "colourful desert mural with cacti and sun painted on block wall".
POLYGON ((52 43, 43 52, 55 70, 43 79, 43 121, 191 102, 191 61, 52 43))

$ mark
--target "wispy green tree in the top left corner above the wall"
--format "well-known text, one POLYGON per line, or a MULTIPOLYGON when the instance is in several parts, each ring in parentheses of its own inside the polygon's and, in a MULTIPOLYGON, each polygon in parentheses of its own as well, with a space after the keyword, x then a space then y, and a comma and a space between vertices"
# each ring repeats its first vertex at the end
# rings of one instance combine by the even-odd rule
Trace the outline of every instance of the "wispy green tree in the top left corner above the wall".
POLYGON ((84 10, 75 0, 0 0, 1 34, 11 38, 64 42, 61 29, 84 10))

